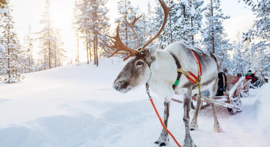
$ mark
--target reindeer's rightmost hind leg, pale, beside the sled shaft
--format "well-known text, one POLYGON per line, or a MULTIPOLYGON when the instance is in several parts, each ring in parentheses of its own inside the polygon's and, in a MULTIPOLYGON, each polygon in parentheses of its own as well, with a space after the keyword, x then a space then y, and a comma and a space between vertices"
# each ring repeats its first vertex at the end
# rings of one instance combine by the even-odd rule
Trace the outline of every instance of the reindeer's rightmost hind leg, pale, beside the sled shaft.
MULTIPOLYGON (((214 99, 215 96, 216 96, 216 90, 217 90, 217 78, 216 78, 216 82, 215 84, 213 85, 212 88, 209 89, 209 92, 210 92, 210 98, 211 99, 214 99)), ((211 103, 211 106, 212 106, 212 111, 213 111, 213 116, 214 116, 214 131, 215 132, 223 132, 222 128, 220 127, 218 121, 217 121, 217 117, 216 117, 216 107, 215 107, 215 104, 214 103, 211 103)))

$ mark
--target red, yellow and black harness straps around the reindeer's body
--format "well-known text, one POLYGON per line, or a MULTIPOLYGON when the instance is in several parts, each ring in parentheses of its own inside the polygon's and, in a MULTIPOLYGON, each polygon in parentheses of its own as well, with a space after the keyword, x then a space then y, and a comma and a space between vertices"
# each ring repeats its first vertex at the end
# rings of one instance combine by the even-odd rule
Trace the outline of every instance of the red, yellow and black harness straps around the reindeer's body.
POLYGON ((180 76, 183 73, 189 79, 190 82, 195 84, 194 87, 196 87, 196 86, 199 87, 199 94, 200 94, 200 89, 201 89, 200 81, 201 81, 201 75, 202 75, 201 63, 200 63, 200 60, 199 60, 197 54, 193 50, 191 50, 191 52, 192 52, 192 54, 193 54, 193 56, 194 56, 194 58, 196 60, 196 64, 197 64, 197 67, 198 67, 198 76, 194 75, 193 73, 191 73, 189 71, 188 72, 184 71, 182 69, 181 64, 180 64, 179 60, 177 59, 177 57, 172 52, 170 53, 172 55, 172 57, 174 58, 175 63, 177 65, 177 79, 175 80, 174 84, 172 85, 172 88, 173 88, 173 90, 175 90, 176 86, 179 83, 180 76))

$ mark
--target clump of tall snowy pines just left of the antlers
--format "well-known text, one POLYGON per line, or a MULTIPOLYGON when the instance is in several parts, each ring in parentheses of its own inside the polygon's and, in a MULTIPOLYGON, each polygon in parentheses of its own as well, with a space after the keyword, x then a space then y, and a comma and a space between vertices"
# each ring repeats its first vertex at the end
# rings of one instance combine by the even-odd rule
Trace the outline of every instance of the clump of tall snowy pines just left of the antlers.
POLYGON ((85 40, 87 51, 87 63, 94 57, 94 64, 98 66, 98 58, 102 55, 102 44, 106 40, 105 34, 109 29, 108 8, 105 6, 108 0, 80 0, 77 6, 79 15, 75 18, 78 30, 85 40))

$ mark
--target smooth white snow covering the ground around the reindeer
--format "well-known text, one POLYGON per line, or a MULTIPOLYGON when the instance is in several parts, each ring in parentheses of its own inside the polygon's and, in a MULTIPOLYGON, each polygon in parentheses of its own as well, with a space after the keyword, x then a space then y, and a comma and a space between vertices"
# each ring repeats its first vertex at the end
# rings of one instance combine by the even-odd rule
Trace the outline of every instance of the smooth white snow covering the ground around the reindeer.
MULTIPOLYGON (((101 59, 99 67, 81 63, 0 83, 0 147, 158 147, 162 126, 145 87, 127 94, 111 88, 123 66, 101 59)), ((152 95, 162 115, 163 102, 152 95)), ((270 147, 270 83, 242 101, 243 112, 235 115, 216 107, 223 133, 213 131, 211 107, 201 110, 199 128, 191 131, 195 145, 270 147)), ((168 128, 183 145, 183 105, 172 102, 170 112, 168 128)), ((167 147, 177 146, 170 139, 167 147)))

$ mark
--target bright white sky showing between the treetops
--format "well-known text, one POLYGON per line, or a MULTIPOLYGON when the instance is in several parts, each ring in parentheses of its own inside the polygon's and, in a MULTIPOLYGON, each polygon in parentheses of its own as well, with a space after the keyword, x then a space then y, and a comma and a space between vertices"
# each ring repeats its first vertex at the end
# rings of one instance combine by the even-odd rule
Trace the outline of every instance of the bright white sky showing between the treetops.
MULTIPOLYGON (((115 18, 119 17, 117 14, 117 1, 108 0, 109 17, 112 29, 116 27, 114 24, 115 18)), ((133 6, 139 6, 143 12, 147 10, 148 0, 130 0, 133 6)), ((152 7, 155 7, 155 0, 149 0, 152 7)), ((208 0, 205 0, 205 4, 208 0)), ((36 33, 43 28, 39 23, 42 19, 44 11, 45 0, 11 0, 13 5, 13 13, 15 29, 21 44, 24 44, 24 36, 27 35, 28 26, 31 25, 32 32, 36 33)), ((55 28, 60 29, 62 41, 64 42, 64 49, 67 50, 68 60, 75 60, 77 55, 77 42, 75 32, 72 29, 73 21, 73 7, 75 0, 51 0, 51 14, 53 17, 53 24, 55 28)), ((225 15, 231 18, 223 22, 225 32, 228 34, 230 41, 236 40, 237 31, 244 32, 252 25, 255 16, 252 15, 250 9, 245 8, 243 2, 238 3, 238 0, 221 0, 221 8, 225 15)), ((36 34, 32 35, 37 38, 36 34)), ((80 58, 81 62, 86 61, 85 50, 82 42, 80 43, 80 58)), ((38 41, 34 42, 34 57, 38 57, 39 51, 38 41)))

